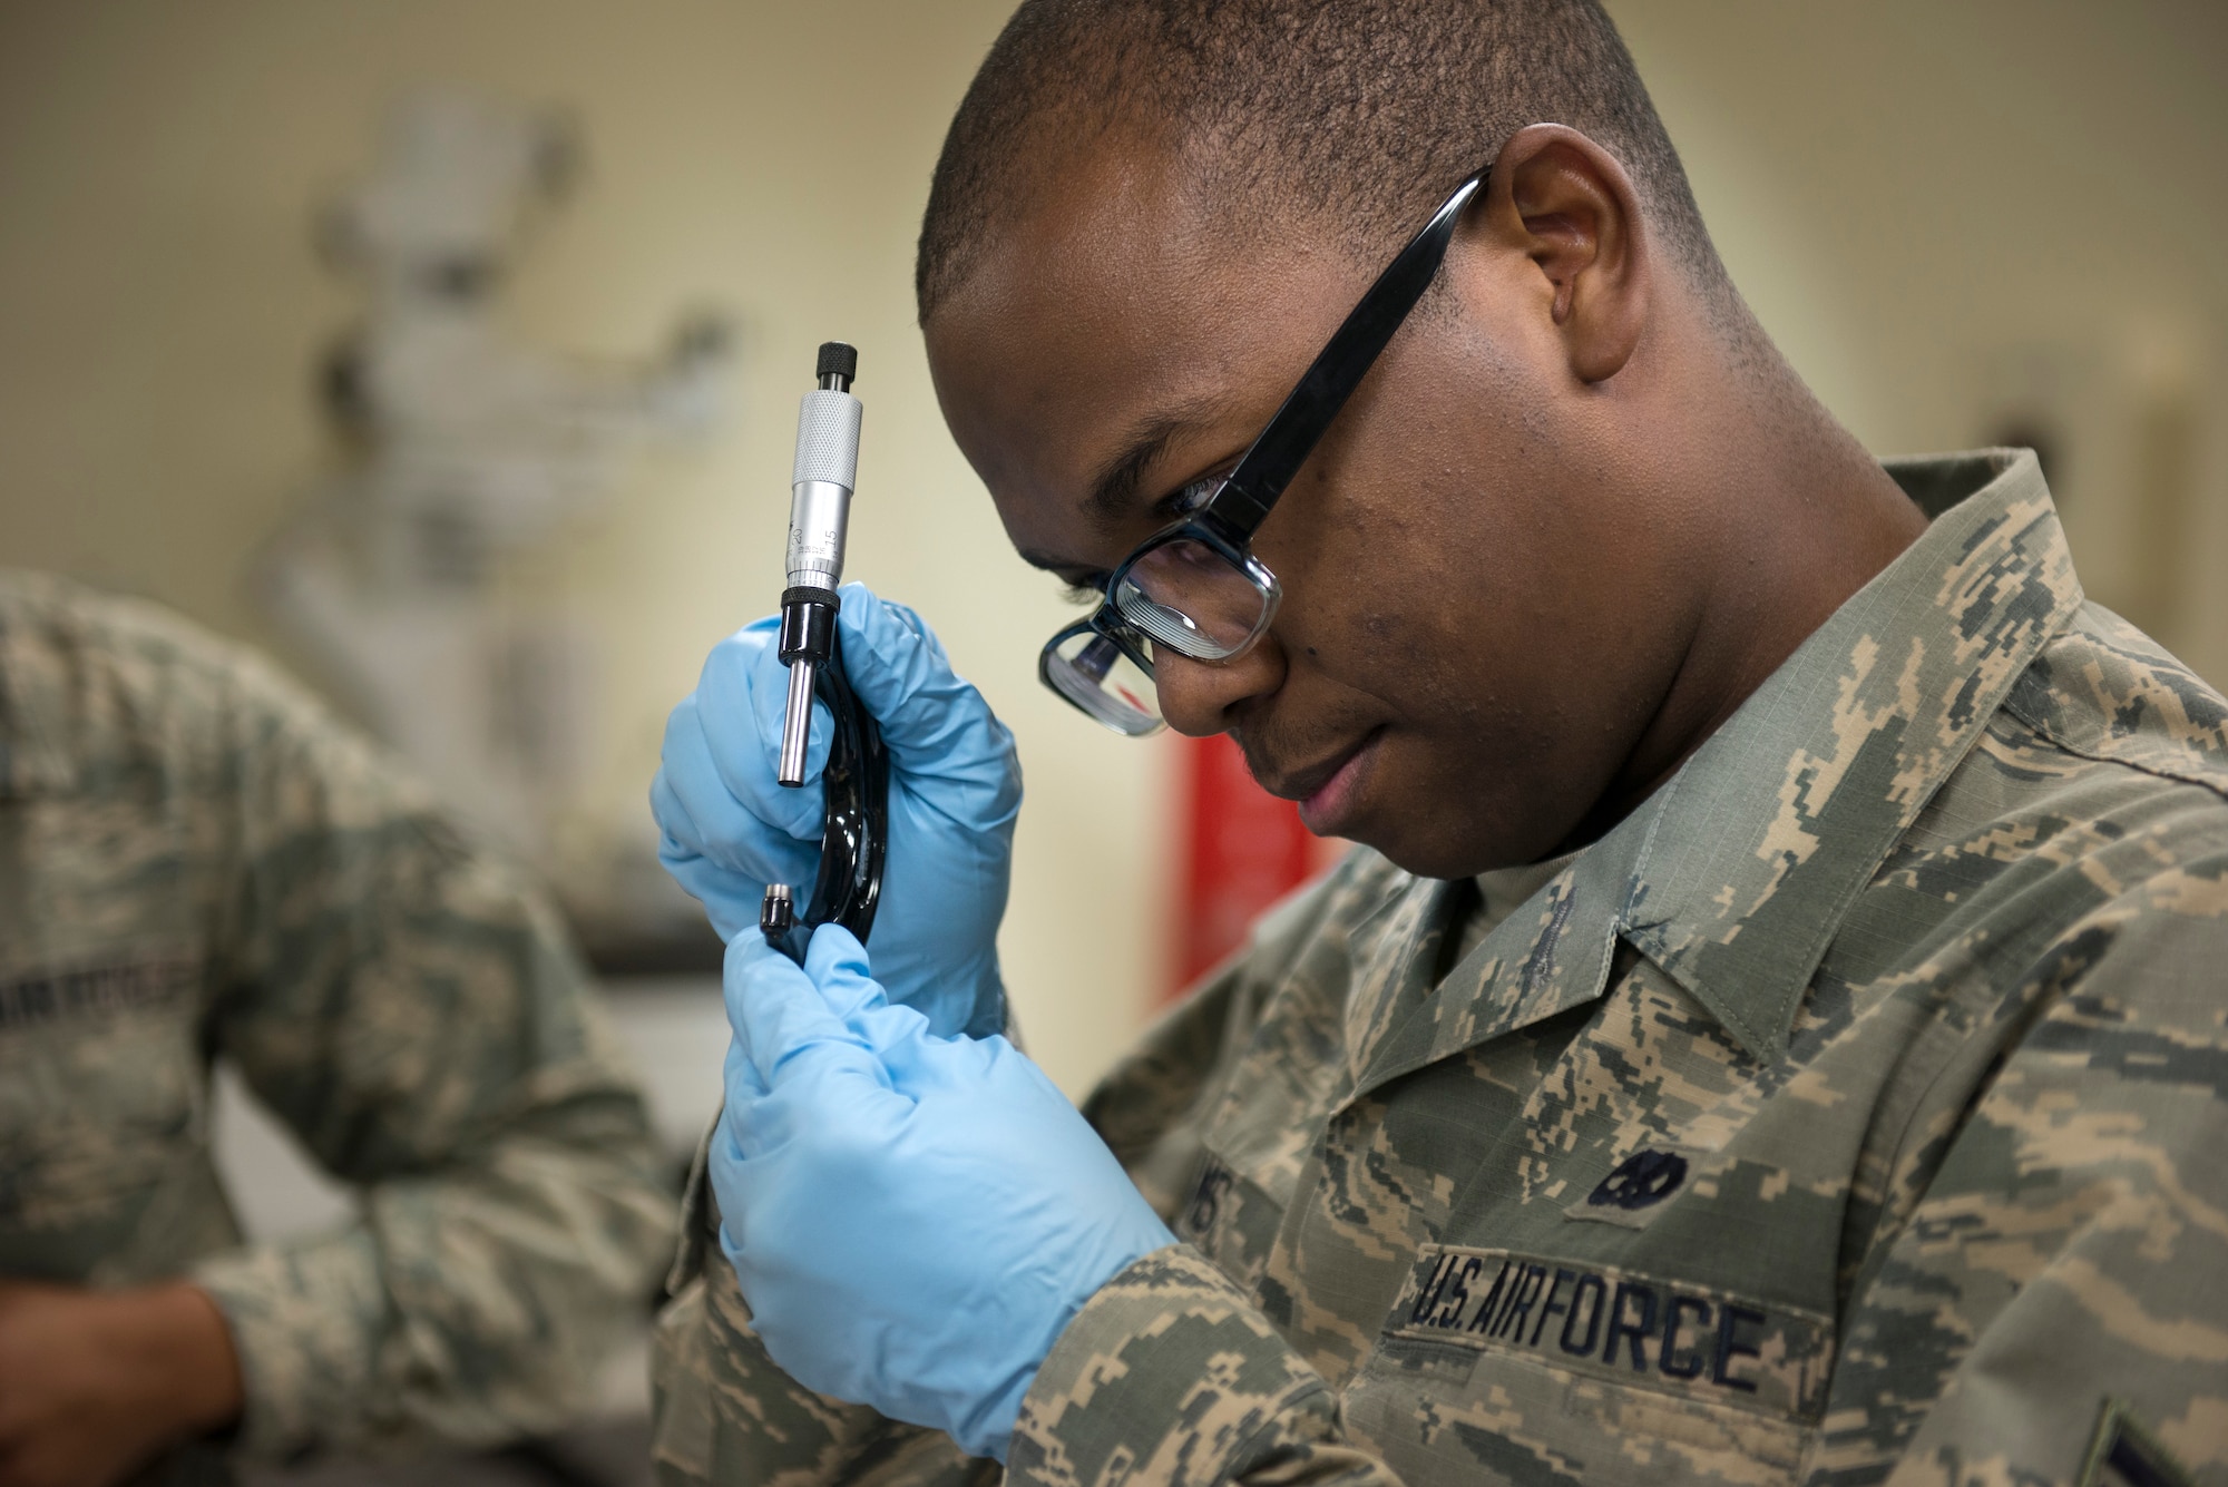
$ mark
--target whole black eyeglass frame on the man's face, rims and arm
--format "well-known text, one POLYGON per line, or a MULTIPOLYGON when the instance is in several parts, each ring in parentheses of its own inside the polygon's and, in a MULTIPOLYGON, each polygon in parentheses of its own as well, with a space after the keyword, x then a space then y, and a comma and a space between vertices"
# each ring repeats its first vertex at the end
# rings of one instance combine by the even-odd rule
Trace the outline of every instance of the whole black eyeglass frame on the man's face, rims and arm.
POLYGON ((1261 523, 1268 521, 1268 514, 1277 510, 1277 499, 1283 496, 1292 479, 1299 476, 1301 465, 1308 463, 1308 456, 1315 454, 1315 445, 1319 445, 1323 434, 1330 432, 1330 425, 1346 407, 1346 401, 1352 398, 1355 387, 1359 387, 1361 378, 1366 378, 1370 367, 1377 365, 1377 358, 1384 354, 1386 345, 1390 345, 1393 334, 1408 321, 1408 314, 1415 312, 1424 292, 1430 289, 1433 280, 1439 276, 1439 265, 1446 260, 1446 249, 1455 240, 1455 227, 1462 223, 1462 211, 1486 189, 1488 178, 1491 167, 1479 169, 1475 176, 1455 187, 1455 194, 1446 198, 1428 223, 1424 223, 1424 229, 1417 232, 1408 245, 1399 249, 1399 254, 1395 254, 1393 263, 1386 265, 1368 292, 1355 301, 1346 321, 1341 321, 1339 329, 1330 334, 1323 349, 1315 354, 1315 361, 1308 363, 1299 385, 1286 394, 1283 403, 1254 436, 1245 454, 1239 456, 1239 463, 1230 470, 1214 494, 1196 512, 1181 516, 1139 543, 1130 557, 1125 557, 1121 565, 1107 574, 1098 608, 1076 623, 1063 626, 1061 632, 1045 643, 1045 650, 1036 659, 1038 681, 1067 699, 1067 703, 1078 712, 1092 717, 1085 703, 1067 697, 1067 692, 1052 679, 1052 663, 1065 641, 1081 634, 1098 634, 1118 646, 1121 652, 1147 677, 1152 677, 1154 643, 1170 646, 1183 654, 1181 646, 1152 641, 1143 634, 1130 619, 1123 617, 1121 603, 1114 599, 1114 594, 1121 592, 1123 581, 1130 577, 1130 570, 1136 568, 1141 559, 1174 541, 1194 541, 1208 548, 1261 592, 1261 617, 1252 632, 1232 650, 1216 657, 1194 659, 1214 666, 1252 650, 1254 641, 1261 639, 1270 621, 1277 619, 1277 603, 1283 597, 1283 585, 1277 581, 1277 574, 1252 554, 1252 536, 1261 530, 1261 523))

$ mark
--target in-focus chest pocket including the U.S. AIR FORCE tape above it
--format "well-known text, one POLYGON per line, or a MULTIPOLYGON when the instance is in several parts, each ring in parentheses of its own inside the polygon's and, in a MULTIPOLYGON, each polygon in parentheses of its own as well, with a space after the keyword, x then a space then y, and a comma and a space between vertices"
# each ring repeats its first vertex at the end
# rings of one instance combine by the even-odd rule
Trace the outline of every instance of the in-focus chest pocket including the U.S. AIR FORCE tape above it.
POLYGON ((1791 1480, 1829 1318, 1662 1276, 1424 1247, 1346 1416, 1404 1480, 1791 1480))

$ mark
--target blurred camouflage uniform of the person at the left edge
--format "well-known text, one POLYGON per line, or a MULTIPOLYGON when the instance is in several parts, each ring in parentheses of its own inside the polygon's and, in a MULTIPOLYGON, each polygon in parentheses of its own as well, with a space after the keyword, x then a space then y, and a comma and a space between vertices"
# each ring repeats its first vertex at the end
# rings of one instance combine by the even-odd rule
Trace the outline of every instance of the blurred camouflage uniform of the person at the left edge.
POLYGON ((198 1282, 292 1456, 561 1422, 671 1235, 541 897, 267 666, 0 574, 0 1276, 198 1282), (241 1244, 214 1057, 356 1222, 241 1244))

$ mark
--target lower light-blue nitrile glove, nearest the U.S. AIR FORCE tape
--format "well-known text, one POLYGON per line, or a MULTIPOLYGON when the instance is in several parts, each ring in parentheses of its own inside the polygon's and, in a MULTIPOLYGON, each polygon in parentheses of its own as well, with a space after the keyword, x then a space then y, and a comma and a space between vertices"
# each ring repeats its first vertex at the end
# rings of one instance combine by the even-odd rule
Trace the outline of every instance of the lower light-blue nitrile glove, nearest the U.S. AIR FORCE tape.
POLYGON ((1176 1238, 1036 1064, 891 1006, 833 924, 802 971, 737 937, 726 1017, 711 1184, 766 1351, 1005 1460, 1069 1318, 1176 1238))

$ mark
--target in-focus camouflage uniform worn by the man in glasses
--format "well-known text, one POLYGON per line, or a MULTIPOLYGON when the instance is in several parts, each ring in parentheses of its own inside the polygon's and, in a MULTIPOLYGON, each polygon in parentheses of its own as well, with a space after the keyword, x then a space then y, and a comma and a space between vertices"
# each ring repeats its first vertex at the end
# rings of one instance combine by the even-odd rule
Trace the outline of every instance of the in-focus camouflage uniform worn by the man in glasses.
MULTIPOLYGON (((1114 1071, 1188 1242, 1012 1478, 2228 1483, 2228 703, 2030 454, 1894 474, 1927 534, 1475 948, 1355 853, 1114 1071)), ((786 1382, 711 1222, 668 1478, 996 1474, 786 1382)))

